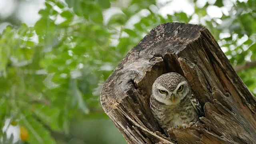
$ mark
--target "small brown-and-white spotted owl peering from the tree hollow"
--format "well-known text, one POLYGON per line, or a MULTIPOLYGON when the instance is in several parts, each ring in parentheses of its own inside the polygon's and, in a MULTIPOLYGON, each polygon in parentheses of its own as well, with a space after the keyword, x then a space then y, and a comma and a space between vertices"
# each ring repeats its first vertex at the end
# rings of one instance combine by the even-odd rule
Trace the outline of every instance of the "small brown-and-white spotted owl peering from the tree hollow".
POLYGON ((197 122, 202 114, 188 81, 175 72, 163 74, 155 80, 150 109, 167 135, 168 128, 197 122))

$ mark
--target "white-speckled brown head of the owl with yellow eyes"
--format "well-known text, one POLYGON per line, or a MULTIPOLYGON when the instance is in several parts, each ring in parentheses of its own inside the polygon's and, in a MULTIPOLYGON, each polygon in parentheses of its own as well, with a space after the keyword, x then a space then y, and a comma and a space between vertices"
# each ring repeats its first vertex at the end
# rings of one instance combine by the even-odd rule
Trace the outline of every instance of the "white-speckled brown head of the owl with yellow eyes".
POLYGON ((175 105, 190 94, 186 78, 176 72, 159 76, 152 86, 152 96, 166 105, 175 105))

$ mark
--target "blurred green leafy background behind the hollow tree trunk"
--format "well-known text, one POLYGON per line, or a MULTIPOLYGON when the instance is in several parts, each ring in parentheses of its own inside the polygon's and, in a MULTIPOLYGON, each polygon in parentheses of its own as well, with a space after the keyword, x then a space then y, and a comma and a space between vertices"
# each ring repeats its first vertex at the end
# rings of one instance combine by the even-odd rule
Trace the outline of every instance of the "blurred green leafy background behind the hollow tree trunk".
POLYGON ((0 0, 0 126, 9 128, 0 137, 126 144, 100 91, 128 51, 166 22, 206 26, 256 94, 255 0, 0 0))

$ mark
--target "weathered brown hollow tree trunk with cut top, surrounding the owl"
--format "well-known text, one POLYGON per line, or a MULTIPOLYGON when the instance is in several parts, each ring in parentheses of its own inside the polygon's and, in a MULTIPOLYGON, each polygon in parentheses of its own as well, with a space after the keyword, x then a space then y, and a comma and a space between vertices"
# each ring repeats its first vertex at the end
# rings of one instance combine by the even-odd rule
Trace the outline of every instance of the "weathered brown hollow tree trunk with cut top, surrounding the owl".
POLYGON ((100 98, 129 144, 256 143, 256 99, 203 26, 156 26, 116 67, 100 98), (187 78, 205 113, 190 129, 169 129, 169 138, 148 103, 154 80, 167 72, 187 78))

